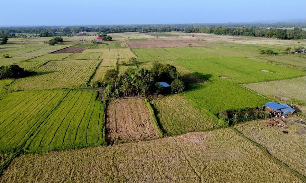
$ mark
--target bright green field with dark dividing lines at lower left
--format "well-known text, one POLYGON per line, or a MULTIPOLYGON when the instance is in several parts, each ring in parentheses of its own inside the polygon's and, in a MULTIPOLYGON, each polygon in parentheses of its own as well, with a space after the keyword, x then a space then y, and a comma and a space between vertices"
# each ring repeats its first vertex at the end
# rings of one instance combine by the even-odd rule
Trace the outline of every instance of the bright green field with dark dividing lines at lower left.
POLYGON ((104 104, 97 91, 21 91, 2 98, 1 152, 70 149, 104 144, 104 104), (21 100, 20 100, 21 99, 21 100), (33 107, 35 110, 27 110, 33 107))

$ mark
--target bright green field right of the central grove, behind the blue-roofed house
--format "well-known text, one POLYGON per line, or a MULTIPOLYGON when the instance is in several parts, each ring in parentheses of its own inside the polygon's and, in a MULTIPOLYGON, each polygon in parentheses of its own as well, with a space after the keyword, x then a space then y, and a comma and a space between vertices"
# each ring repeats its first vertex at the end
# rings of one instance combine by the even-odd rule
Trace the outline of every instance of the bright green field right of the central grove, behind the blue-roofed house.
POLYGON ((177 60, 187 70, 196 73, 209 84, 190 85, 185 95, 210 112, 261 106, 266 99, 247 91, 237 83, 251 83, 303 76, 303 72, 280 66, 231 57, 215 59, 177 60), (262 72, 270 70, 272 72, 262 72), (226 76, 230 79, 220 78, 226 76))

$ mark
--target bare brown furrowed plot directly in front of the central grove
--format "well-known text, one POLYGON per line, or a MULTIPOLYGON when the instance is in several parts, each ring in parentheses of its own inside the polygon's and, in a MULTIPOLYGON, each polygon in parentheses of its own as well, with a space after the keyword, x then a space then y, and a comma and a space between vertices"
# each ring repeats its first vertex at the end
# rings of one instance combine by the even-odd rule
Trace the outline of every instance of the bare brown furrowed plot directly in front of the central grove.
POLYGON ((133 141, 159 137, 149 109, 141 99, 111 101, 106 111, 108 141, 133 141))

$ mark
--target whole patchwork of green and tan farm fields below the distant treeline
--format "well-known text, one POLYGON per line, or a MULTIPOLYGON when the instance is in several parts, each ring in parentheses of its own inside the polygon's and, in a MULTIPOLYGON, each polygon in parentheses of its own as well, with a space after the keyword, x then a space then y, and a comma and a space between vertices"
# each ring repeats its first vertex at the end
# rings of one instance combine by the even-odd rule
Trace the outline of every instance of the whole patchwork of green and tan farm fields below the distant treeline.
MULTIPOLYGON (((228 122, 219 119, 222 111, 261 107, 270 99, 304 104, 305 91, 297 88, 305 88, 305 54, 283 53, 304 43, 167 34, 112 34, 113 41, 102 44, 93 44, 95 37, 64 36, 64 43, 55 46, 44 44, 48 37, 12 38, 12 44, 0 45, 1 55, 11 56, 0 58, 0 65, 35 71, 25 78, 0 80, 0 182, 304 182, 300 158, 305 138, 288 137, 274 128, 258 131, 262 121, 225 128, 228 122), (279 54, 261 55, 264 49, 279 54), (136 65, 126 65, 132 57, 136 65), (130 68, 150 69, 154 63, 174 65, 186 91, 151 97, 150 102, 102 102, 95 88, 85 88, 90 80, 103 81, 109 69, 121 75, 130 68), (160 139, 173 135, 178 136, 160 139), (297 145, 282 152, 292 143, 297 145), (107 144, 113 146, 93 147, 107 144), (83 147, 91 148, 77 149, 83 147), (58 150, 67 151, 49 152, 58 150)), ((296 128, 292 124, 289 133, 296 128)))

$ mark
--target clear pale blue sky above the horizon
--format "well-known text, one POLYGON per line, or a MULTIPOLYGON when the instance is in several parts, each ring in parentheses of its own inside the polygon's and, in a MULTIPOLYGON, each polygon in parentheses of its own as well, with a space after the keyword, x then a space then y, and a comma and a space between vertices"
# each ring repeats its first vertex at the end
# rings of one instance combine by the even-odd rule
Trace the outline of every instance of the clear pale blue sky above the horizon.
POLYGON ((305 19, 305 0, 2 0, 0 26, 228 23, 305 19))

